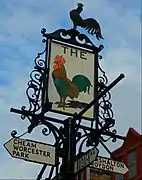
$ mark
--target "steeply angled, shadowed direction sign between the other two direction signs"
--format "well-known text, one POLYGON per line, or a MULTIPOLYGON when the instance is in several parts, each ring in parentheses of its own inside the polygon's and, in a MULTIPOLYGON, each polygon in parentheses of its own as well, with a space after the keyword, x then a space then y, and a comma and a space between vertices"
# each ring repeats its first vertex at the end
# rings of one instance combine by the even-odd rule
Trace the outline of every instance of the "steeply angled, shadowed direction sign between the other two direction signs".
POLYGON ((96 159, 98 152, 99 150, 95 147, 88 150, 81 158, 79 158, 75 162, 74 173, 80 171, 81 169, 92 163, 96 159))

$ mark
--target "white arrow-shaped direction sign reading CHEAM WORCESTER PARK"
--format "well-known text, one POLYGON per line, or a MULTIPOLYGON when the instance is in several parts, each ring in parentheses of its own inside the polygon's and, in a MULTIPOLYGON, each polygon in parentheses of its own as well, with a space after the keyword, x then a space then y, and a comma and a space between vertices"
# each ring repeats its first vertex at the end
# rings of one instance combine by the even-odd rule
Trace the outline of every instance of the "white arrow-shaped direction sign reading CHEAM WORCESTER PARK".
POLYGON ((18 159, 55 165, 55 147, 27 139, 12 138, 4 144, 9 154, 18 159))

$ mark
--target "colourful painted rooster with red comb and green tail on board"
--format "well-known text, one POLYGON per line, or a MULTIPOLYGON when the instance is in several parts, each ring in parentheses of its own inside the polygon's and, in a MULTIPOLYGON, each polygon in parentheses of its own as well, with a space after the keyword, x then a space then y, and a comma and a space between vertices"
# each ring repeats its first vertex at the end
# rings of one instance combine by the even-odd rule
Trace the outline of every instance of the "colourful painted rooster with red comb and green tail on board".
POLYGON ((54 66, 52 78, 54 85, 60 97, 58 107, 65 109, 66 98, 78 98, 80 92, 89 94, 90 87, 92 87, 90 80, 84 75, 75 75, 72 80, 68 79, 64 64, 66 60, 63 56, 57 55, 54 58, 54 66))

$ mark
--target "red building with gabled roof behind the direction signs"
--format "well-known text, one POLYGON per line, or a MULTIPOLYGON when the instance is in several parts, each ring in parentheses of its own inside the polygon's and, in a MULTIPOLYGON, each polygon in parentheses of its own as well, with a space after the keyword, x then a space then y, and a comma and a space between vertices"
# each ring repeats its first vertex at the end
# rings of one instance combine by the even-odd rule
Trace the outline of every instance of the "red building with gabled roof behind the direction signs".
POLYGON ((112 152, 128 167, 125 175, 113 174, 112 180, 142 180, 142 135, 133 128, 128 130, 122 146, 112 152))

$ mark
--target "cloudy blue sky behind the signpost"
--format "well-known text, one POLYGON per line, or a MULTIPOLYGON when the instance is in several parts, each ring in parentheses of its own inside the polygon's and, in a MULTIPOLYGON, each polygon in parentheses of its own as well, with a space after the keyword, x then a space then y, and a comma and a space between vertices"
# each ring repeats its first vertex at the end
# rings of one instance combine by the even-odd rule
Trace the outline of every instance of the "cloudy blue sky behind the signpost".
MULTIPOLYGON (((112 104, 118 134, 126 135, 129 127, 141 133, 141 5, 140 0, 82 0, 83 17, 98 20, 104 40, 102 66, 111 82, 120 73, 123 79, 113 90, 112 104)), ((77 0, 0 0, 0 178, 36 178, 41 165, 12 158, 4 149, 12 130, 25 132, 28 121, 10 113, 10 107, 21 108, 27 103, 25 90, 34 58, 44 49, 40 30, 71 28, 68 12, 77 0)), ((91 37, 91 36, 89 36, 91 37)), ((24 138, 47 142, 40 128, 24 138)), ((47 142, 49 143, 49 141, 47 142)), ((121 143, 112 145, 111 150, 121 143)), ((47 175, 47 174, 46 174, 47 175)), ((46 177, 44 175, 44 177, 46 177)))

